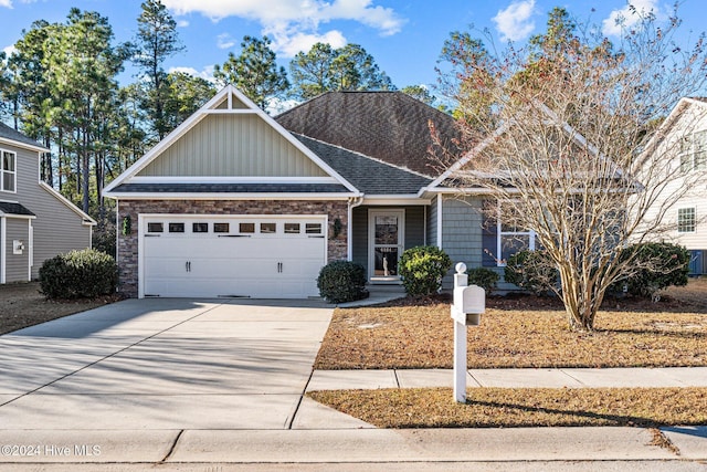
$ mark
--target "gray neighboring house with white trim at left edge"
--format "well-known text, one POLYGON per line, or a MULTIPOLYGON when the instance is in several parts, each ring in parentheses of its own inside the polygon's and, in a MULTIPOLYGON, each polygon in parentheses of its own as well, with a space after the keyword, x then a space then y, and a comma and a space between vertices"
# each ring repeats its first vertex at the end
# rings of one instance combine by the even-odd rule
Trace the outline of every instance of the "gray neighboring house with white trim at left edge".
POLYGON ((0 123, 0 283, 36 279, 46 259, 91 248, 96 222, 40 181, 48 151, 0 123))

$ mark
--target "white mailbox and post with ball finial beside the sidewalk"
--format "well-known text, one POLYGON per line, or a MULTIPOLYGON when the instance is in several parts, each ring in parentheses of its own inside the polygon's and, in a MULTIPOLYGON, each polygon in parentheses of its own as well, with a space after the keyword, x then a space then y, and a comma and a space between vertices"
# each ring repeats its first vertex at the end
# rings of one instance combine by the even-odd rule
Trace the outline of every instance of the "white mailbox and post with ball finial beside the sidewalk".
POLYGON ((486 310, 484 289, 468 285, 466 264, 457 263, 454 269, 454 399, 466 402, 466 326, 478 326, 481 315, 486 310))

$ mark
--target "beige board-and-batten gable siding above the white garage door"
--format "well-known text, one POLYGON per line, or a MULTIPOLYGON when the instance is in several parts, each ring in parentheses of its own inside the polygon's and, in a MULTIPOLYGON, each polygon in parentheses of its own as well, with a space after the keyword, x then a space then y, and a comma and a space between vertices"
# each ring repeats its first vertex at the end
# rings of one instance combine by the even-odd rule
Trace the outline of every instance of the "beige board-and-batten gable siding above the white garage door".
POLYGON ((255 114, 204 117, 139 177, 327 177, 255 114))

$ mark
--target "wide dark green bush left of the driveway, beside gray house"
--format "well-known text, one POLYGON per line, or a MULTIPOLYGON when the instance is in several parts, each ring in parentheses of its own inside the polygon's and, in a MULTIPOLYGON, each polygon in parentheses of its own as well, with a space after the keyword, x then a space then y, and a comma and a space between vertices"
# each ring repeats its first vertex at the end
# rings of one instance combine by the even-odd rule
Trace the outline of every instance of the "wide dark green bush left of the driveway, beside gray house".
POLYGON ((115 293, 117 285, 115 259, 94 249, 59 254, 40 268, 41 292, 49 298, 94 298, 115 293))

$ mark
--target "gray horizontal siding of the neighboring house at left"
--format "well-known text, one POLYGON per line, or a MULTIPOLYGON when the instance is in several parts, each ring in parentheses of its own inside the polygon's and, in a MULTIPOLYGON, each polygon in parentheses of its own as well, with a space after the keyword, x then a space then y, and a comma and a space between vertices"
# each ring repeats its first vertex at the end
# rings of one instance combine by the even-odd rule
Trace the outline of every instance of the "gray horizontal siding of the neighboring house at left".
MULTIPOLYGON (((0 198, 20 202, 36 217, 32 220, 32 228, 34 228, 32 279, 36 279, 39 269, 46 259, 74 249, 91 248, 91 227, 83 224, 82 216, 40 186, 36 151, 14 147, 11 150, 18 154, 17 193, 0 192, 0 198)), ((25 250, 29 253, 29 243, 25 250)))

